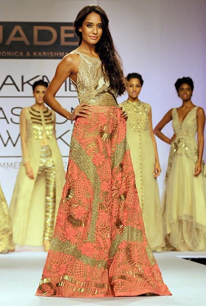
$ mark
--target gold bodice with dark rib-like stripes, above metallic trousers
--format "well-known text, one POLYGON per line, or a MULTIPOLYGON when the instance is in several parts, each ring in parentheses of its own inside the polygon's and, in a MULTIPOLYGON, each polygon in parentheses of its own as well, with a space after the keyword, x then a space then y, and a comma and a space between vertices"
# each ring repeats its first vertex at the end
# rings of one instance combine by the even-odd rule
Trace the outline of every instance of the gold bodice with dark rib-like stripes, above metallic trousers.
POLYGON ((33 107, 29 110, 32 120, 32 133, 35 139, 52 139, 54 133, 54 116, 47 108, 45 111, 37 111, 33 107))

